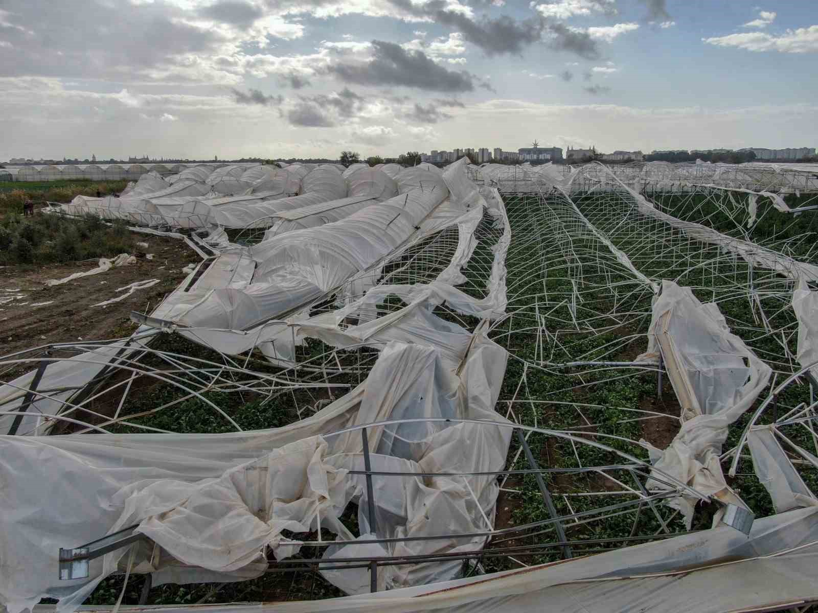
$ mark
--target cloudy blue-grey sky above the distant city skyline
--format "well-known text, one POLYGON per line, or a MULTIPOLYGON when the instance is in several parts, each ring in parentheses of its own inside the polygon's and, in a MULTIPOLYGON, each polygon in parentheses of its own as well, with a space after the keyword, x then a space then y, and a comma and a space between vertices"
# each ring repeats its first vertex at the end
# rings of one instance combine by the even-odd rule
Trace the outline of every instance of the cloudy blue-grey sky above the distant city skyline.
POLYGON ((818 145, 816 0, 0 0, 0 160, 818 145))

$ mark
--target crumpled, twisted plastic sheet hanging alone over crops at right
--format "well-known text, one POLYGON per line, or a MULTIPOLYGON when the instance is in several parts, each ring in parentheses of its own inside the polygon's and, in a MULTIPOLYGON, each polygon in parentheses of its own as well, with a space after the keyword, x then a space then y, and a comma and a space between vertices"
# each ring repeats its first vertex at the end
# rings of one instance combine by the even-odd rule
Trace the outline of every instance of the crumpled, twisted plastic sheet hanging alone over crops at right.
MULTIPOLYGON (((663 281, 649 333, 661 347, 668 378, 681 405, 682 422, 667 449, 651 450, 654 467, 694 490, 746 508, 727 486, 719 455, 727 427, 766 387, 770 367, 730 333, 715 304, 702 304, 690 288, 680 288, 672 281, 663 281)), ((653 479, 646 487, 667 489, 653 479)), ((670 503, 682 512, 688 529, 694 503, 690 497, 670 503)))

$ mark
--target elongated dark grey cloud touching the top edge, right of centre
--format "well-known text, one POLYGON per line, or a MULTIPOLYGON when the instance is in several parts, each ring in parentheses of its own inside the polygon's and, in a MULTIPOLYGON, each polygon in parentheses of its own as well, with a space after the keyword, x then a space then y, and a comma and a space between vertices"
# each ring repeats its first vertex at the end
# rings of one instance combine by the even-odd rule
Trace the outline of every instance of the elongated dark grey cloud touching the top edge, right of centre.
POLYGON ((519 56, 534 43, 546 43, 557 51, 571 51, 589 59, 600 56, 596 41, 587 33, 577 32, 539 15, 524 20, 515 20, 506 15, 471 20, 461 12, 449 10, 443 0, 430 0, 424 4, 415 4, 411 0, 389 2, 413 16, 456 29, 463 34, 465 41, 482 49, 487 56, 506 53, 519 56))

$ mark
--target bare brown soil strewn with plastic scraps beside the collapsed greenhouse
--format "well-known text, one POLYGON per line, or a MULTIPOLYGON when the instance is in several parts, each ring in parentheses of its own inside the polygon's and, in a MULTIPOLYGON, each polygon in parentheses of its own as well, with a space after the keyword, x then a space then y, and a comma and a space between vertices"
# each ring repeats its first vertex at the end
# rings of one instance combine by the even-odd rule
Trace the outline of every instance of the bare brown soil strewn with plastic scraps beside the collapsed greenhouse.
POLYGON ((146 253, 126 264, 97 275, 80 277, 61 285, 48 286, 50 279, 63 279, 75 272, 96 268, 96 259, 87 262, 47 266, 0 267, 0 298, 21 296, 0 304, 0 355, 23 351, 51 342, 73 342, 122 338, 133 333, 137 324, 131 311, 153 308, 185 278, 182 268, 200 262, 200 257, 184 242, 138 234, 149 245, 146 253), (136 281, 159 279, 147 289, 105 307, 97 302, 117 298, 117 289, 136 281), (19 290, 9 292, 7 290, 19 290), (49 304, 39 304, 49 302, 49 304), (39 306, 37 306, 39 304, 39 306))

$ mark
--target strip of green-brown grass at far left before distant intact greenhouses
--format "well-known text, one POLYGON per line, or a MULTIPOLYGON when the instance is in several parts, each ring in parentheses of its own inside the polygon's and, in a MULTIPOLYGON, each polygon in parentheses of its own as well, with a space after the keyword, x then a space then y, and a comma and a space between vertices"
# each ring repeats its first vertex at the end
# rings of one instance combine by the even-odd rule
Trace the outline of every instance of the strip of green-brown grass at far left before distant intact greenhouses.
POLYGON ((75 196, 95 196, 119 194, 128 181, 91 181, 74 179, 71 181, 0 181, 0 217, 11 213, 22 213, 23 203, 30 199, 34 204, 45 202, 70 202, 75 196))

